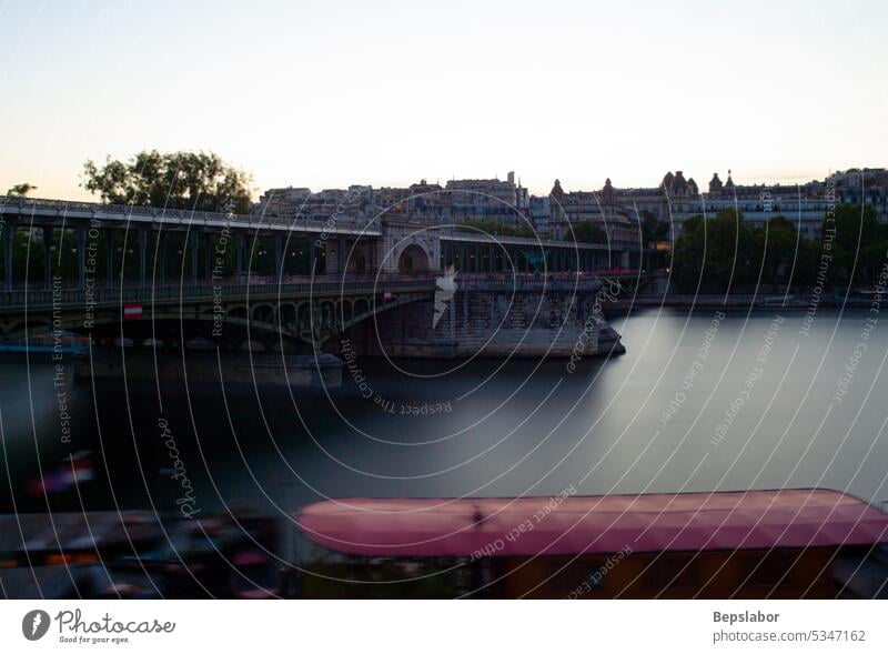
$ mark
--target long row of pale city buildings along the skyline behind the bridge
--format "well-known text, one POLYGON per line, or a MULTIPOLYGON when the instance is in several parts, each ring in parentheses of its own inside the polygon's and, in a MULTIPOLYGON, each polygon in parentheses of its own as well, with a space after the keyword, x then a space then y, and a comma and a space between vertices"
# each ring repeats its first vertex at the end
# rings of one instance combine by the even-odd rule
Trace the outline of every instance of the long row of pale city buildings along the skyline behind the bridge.
POLYGON ((705 191, 677 170, 647 188, 619 189, 607 179, 598 191, 565 192, 555 180, 546 197, 532 197, 516 182, 514 172, 505 180, 451 180, 443 188, 424 179, 406 188, 353 184, 316 193, 287 187, 265 191, 256 212, 293 220, 335 217, 359 223, 382 218, 433 224, 495 222, 533 227, 538 235, 551 239, 568 239, 572 225, 591 222, 605 231, 608 242, 637 245, 645 219, 667 223, 674 239, 687 219, 713 218, 726 209, 739 210, 756 225, 784 217, 803 237, 816 239, 831 204, 867 204, 880 220, 888 220, 888 170, 850 169, 824 181, 793 185, 738 184, 730 171, 724 181, 715 172, 705 191))

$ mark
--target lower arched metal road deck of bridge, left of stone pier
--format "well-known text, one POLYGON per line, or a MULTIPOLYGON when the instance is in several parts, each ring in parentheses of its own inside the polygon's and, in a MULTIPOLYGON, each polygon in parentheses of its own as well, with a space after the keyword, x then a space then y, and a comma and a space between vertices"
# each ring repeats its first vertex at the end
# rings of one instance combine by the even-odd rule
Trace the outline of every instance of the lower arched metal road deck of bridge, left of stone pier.
POLYGON ((434 292, 434 278, 87 290, 59 285, 0 293, 0 338, 47 330, 114 339, 127 323, 127 335, 138 340, 178 342, 188 334, 299 351, 299 345, 320 348, 383 311, 431 301, 434 292))

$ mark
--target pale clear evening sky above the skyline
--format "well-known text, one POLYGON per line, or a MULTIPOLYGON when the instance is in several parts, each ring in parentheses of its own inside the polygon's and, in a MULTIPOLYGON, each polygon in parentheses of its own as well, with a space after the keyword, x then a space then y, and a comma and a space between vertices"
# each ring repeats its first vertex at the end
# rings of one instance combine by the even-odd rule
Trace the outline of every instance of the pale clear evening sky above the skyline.
POLYGON ((888 165, 888 2, 0 0, 0 193, 219 153, 273 187, 705 188, 888 165))

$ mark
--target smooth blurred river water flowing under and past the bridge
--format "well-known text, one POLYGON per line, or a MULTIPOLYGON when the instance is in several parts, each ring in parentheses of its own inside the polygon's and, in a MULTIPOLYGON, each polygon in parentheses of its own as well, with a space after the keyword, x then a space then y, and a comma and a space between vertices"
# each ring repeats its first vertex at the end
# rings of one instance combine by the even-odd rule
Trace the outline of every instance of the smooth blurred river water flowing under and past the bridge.
POLYGON ((176 470, 208 513, 571 486, 828 486, 880 502, 888 324, 868 318, 823 311, 806 329, 794 312, 635 312, 612 319, 627 348, 612 360, 359 358, 329 392, 189 379, 68 383, 60 398, 51 365, 4 360, 0 511, 46 511, 38 463, 51 476, 73 452, 92 479, 80 499, 62 484, 53 510, 175 510, 176 470))

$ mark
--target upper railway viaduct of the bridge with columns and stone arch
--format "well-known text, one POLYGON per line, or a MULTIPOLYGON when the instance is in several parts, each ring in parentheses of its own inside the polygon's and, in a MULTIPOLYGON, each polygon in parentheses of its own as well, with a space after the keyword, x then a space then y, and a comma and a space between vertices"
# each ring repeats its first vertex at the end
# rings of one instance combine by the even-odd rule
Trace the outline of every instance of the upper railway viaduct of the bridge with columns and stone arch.
MULTIPOLYGON (((0 197, 3 289, 49 289, 56 268, 107 283, 128 278, 167 283, 171 270, 191 280, 382 272, 594 272, 642 266, 637 246, 492 235, 468 227, 385 215, 359 222, 213 213, 152 207, 0 197), (17 250, 18 243, 18 250, 17 250), (52 253, 53 256, 49 254, 52 253)), ((69 280, 71 281, 71 280, 69 280)))

